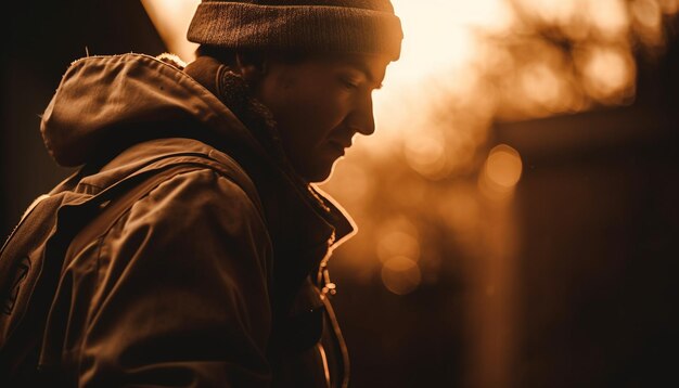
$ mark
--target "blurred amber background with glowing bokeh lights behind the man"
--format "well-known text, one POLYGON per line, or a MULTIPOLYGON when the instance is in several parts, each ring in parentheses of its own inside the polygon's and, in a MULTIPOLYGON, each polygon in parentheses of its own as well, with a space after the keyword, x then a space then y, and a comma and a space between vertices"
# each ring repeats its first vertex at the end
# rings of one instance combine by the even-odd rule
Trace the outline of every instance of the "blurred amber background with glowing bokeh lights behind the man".
MULTIPOLYGON (((353 387, 679 386, 678 0, 393 0, 377 132, 321 185, 353 387)), ((69 170, 43 112, 81 56, 191 61, 195 0, 3 12, 0 231, 69 170)))

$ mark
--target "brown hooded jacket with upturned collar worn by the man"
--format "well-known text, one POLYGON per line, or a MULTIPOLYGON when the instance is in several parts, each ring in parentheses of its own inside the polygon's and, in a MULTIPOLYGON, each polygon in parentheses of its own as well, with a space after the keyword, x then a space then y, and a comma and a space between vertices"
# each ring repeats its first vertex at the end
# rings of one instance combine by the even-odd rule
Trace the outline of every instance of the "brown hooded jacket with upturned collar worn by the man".
POLYGON ((76 186, 82 195, 176 154, 239 174, 177 174, 69 250, 40 348, 47 376, 79 386, 346 385, 322 289, 353 222, 292 170, 242 80, 210 59, 185 69, 141 54, 82 59, 41 131, 59 164, 97 167, 76 186))

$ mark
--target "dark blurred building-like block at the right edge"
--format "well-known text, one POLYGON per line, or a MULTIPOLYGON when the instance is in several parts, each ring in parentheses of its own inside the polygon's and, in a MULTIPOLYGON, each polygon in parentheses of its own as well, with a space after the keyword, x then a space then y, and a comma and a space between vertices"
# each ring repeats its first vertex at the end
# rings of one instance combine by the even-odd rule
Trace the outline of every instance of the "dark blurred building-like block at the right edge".
POLYGON ((629 106, 496 124, 524 164, 504 386, 679 386, 678 43, 629 106))

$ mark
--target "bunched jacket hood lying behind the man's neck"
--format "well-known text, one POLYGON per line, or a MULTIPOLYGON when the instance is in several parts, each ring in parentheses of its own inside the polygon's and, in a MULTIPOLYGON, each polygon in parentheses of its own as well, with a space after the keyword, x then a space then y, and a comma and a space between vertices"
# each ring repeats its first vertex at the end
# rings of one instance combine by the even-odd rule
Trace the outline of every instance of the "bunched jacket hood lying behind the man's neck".
POLYGON ((89 56, 66 70, 40 131, 56 163, 71 167, 97 157, 102 144, 111 148, 153 138, 155 128, 188 120, 208 128, 226 126, 228 137, 254 141, 214 94, 179 67, 143 54, 89 56))

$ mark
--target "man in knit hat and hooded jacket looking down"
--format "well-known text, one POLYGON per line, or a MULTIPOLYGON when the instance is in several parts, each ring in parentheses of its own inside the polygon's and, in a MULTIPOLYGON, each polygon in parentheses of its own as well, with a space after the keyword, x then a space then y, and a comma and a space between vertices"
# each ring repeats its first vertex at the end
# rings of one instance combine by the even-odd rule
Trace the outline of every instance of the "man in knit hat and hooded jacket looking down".
POLYGON ((388 0, 205 1, 185 67, 139 54, 75 62, 41 125, 57 163, 85 165, 72 202, 193 167, 69 243, 42 378, 346 386, 326 263, 353 225, 310 183, 374 131, 371 93, 401 37, 388 0))

